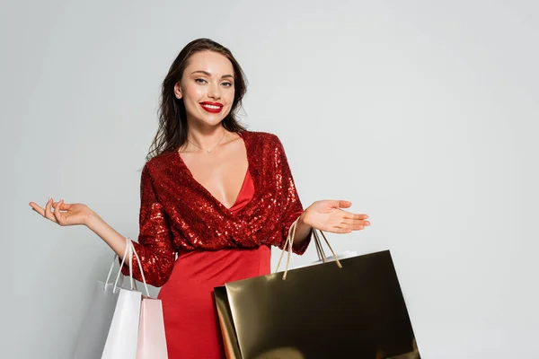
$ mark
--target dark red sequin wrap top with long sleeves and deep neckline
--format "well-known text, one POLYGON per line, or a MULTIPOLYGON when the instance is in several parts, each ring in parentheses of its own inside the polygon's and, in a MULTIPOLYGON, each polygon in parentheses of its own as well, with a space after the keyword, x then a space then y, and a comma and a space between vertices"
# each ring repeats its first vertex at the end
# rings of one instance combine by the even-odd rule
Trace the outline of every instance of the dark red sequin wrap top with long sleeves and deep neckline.
MULTIPOLYGON (((268 133, 243 131, 240 136, 254 195, 235 214, 192 177, 179 153, 163 153, 146 162, 140 233, 134 245, 148 284, 166 282, 176 251, 254 249, 264 244, 283 248, 290 225, 303 212, 283 145, 268 133)), ((308 244, 304 241, 295 252, 303 254, 308 244)), ((122 270, 128 273, 127 267, 122 270)), ((142 279, 137 266, 133 272, 142 279)))

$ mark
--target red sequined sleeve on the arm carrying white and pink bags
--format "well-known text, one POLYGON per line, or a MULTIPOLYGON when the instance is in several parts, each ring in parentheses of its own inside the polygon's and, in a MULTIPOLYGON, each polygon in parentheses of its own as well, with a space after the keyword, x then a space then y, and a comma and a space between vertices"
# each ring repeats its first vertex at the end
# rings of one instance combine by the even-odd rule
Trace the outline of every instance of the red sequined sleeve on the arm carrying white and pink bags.
MULTIPOLYGON (((170 223, 163 211, 163 206, 155 195, 153 183, 147 163, 142 170, 140 180, 140 215, 138 242, 133 242, 138 258, 142 263, 146 283, 162 286, 172 272, 174 250, 170 223)), ((133 255, 133 277, 142 281, 137 258, 133 255)), ((124 264, 122 273, 128 275, 128 265, 124 264)))

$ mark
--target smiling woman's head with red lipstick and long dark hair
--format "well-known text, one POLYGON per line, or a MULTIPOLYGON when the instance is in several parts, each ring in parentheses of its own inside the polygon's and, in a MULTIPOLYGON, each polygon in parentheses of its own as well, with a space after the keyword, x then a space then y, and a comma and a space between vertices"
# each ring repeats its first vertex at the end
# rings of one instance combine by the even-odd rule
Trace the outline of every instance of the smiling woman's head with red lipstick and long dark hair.
MULTIPOLYGON (((246 91, 242 67, 230 50, 210 39, 191 41, 181 49, 163 80, 159 129, 147 159, 159 153, 177 151, 186 142, 202 148, 216 146, 211 138, 206 140, 209 146, 201 146, 201 138, 197 141, 190 137, 188 141, 188 114, 189 117, 198 114, 197 119, 212 120, 214 125, 220 119, 220 125, 226 132, 244 131, 245 127, 237 121, 235 114, 242 106, 246 91), (215 100, 216 95, 222 98, 215 100), (218 112, 200 111, 211 107, 215 109, 216 106, 221 107, 218 112), (216 116, 205 118, 203 115, 208 113, 216 116)), ((198 121, 190 125, 198 124, 203 125, 198 121)), ((196 136, 194 133, 192 135, 196 136)))

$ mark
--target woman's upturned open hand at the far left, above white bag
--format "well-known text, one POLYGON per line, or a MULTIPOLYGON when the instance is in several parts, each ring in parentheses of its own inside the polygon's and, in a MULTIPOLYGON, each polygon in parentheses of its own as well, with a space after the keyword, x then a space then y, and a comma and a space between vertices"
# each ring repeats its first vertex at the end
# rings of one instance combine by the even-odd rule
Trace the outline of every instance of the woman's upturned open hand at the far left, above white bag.
POLYGON ((94 215, 88 206, 82 203, 64 203, 63 199, 59 202, 53 202, 52 198, 50 198, 45 208, 35 202, 31 202, 30 206, 38 214, 62 226, 76 224, 88 225, 88 222, 94 215))

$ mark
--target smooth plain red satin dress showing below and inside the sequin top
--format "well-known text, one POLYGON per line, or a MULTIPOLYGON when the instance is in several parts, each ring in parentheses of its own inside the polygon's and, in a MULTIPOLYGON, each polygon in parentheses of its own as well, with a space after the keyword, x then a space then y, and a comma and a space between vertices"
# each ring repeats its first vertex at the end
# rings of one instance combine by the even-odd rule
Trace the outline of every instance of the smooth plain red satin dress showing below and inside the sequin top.
MULTIPOLYGON (((254 194, 247 172, 243 188, 231 209, 236 213, 254 194)), ((270 273, 271 249, 193 250, 182 253, 159 298, 170 359, 225 358, 216 319, 213 288, 270 273)))

